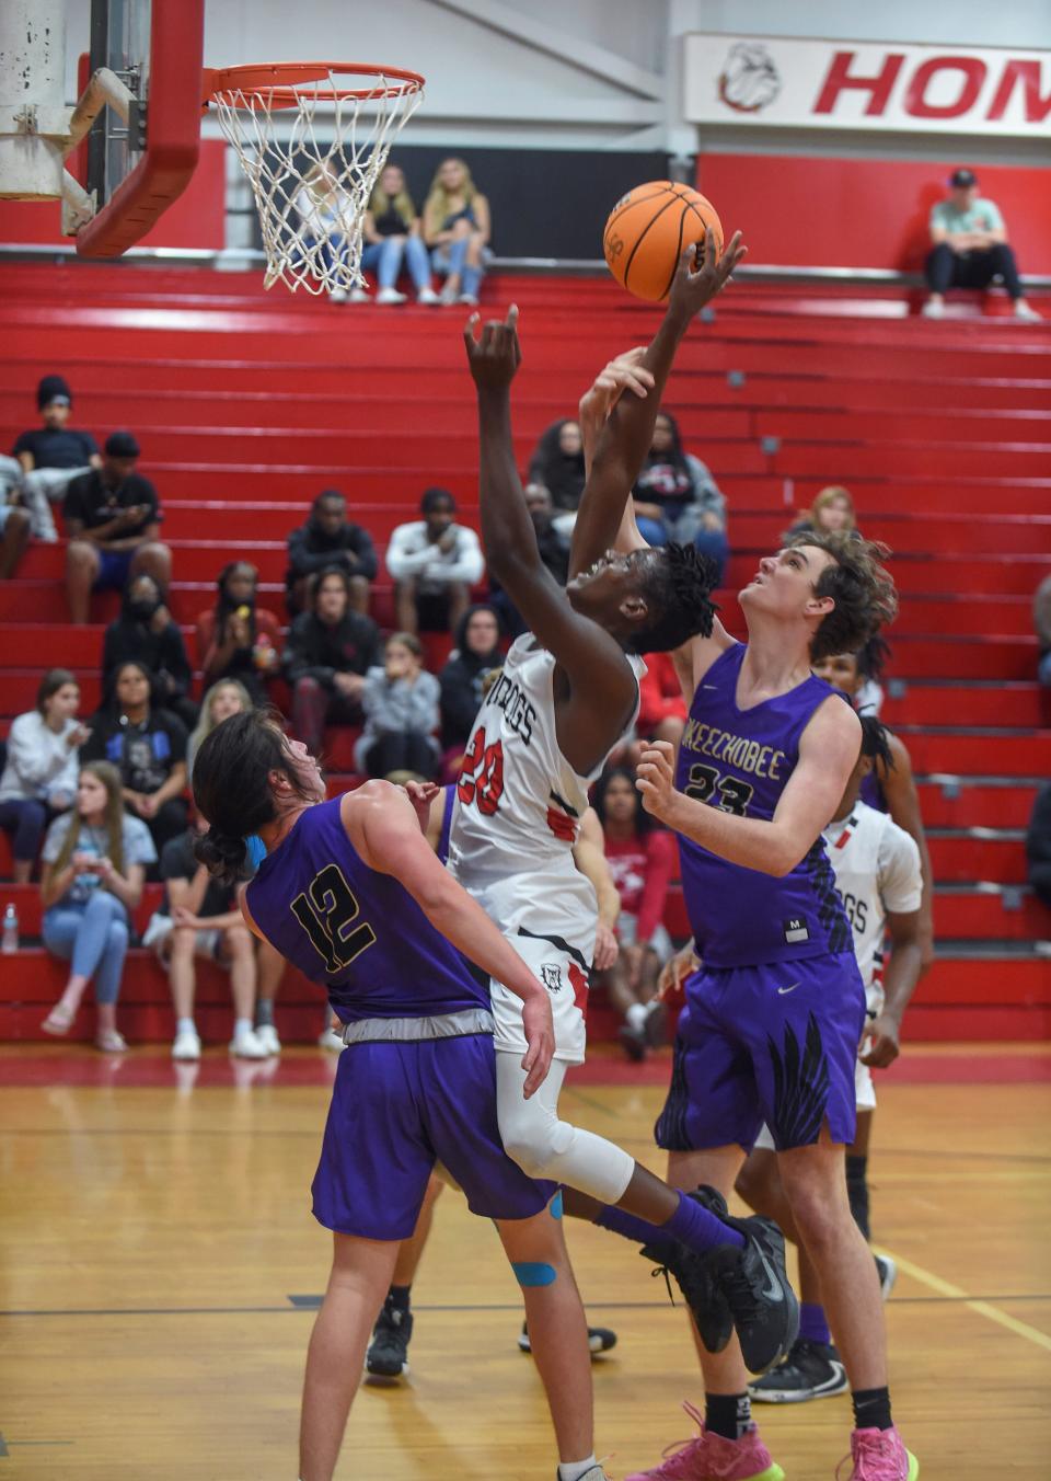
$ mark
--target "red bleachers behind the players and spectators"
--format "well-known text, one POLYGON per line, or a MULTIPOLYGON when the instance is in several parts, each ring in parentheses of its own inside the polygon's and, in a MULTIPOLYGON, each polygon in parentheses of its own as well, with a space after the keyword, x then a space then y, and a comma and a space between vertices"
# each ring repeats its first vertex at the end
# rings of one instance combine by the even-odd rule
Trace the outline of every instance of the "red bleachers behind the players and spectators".
MULTIPOLYGON (((940 960, 907 1031, 1044 1037, 1051 966, 1032 943, 1051 936, 1051 917, 1024 889, 1021 835, 1051 776, 1030 618, 1051 569, 1051 326, 931 324, 901 318, 887 293, 851 292, 836 301, 734 287, 715 323, 684 345, 668 404, 730 502, 734 557, 721 601, 736 631, 733 591, 825 483, 845 483, 866 533, 894 548, 901 615, 884 714, 912 752, 938 884, 940 960)), ((523 310, 524 461, 604 360, 645 339, 656 320, 605 280, 502 278, 487 293, 523 310)), ((474 403, 456 314, 339 310, 265 295, 256 274, 77 264, 9 267, 0 323, 0 446, 33 425, 33 390, 53 370, 74 387, 75 425, 99 437, 135 429, 142 471, 161 493, 172 609, 188 635, 213 601, 216 570, 238 552, 259 566, 263 601, 281 610, 284 536, 323 487, 348 495, 380 551, 429 484, 451 489, 477 518, 474 403)), ((115 595, 95 603, 90 628, 68 628, 62 560, 59 546, 34 546, 0 586, 4 732, 50 663, 77 669, 86 706, 96 702, 101 625, 115 595)), ((389 624, 383 576, 373 610, 389 624)), ((330 738, 336 782, 351 770, 348 739, 330 738)), ((0 838, 0 878, 9 874, 0 838)), ((34 935, 36 889, 0 884, 7 897, 34 935)), ((668 924, 685 935, 676 892, 668 924)), ((4 958, 0 1038, 37 1037, 61 982, 61 964, 40 949, 4 958)), ((201 1026, 221 1037, 225 977, 206 969, 200 992, 201 1026)), ((284 1037, 317 1034, 317 995, 302 979, 286 985, 280 1012, 284 1037)), ((121 1023, 132 1040, 172 1031, 166 980, 139 951, 121 1023)))

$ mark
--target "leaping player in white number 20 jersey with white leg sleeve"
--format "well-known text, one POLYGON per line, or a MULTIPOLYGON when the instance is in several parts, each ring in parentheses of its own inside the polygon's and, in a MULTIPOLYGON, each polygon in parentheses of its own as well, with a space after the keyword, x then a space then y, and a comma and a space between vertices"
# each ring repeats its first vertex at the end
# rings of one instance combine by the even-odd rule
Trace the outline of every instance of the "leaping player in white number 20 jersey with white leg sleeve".
MULTIPOLYGON (((734 238, 721 261, 712 253, 699 271, 682 264, 671 295, 682 330, 740 256, 734 238)), ((607 554, 586 570, 571 555, 565 591, 552 581, 539 557, 511 437, 509 392, 521 361, 517 318, 512 308, 506 323, 487 323, 475 339, 478 315, 472 315, 463 338, 478 391, 486 557, 530 634, 512 646, 480 709, 450 835, 450 869, 534 964, 552 998, 551 1086, 526 1100, 517 1050, 521 1016, 500 983, 491 983, 500 1134, 523 1169, 594 1200, 600 1222, 607 1214, 629 1219, 641 1241, 682 1250, 688 1259, 682 1266, 676 1262, 675 1275, 702 1330, 712 1330, 705 1320, 713 1305, 728 1311, 748 1349, 746 1364, 761 1371, 786 1351, 796 1327, 779 1231, 764 1219, 740 1222, 711 1213, 619 1146, 558 1117, 561 1080, 585 1052, 582 1007, 595 896, 580 883, 570 850, 588 783, 635 718, 638 655, 669 650, 694 632, 711 631, 715 573, 693 546, 617 555, 608 546, 620 514, 610 514, 608 496, 595 499, 586 487, 577 532, 586 533, 589 548, 601 541, 607 554)), ((635 392, 645 403, 651 382, 634 364, 619 363, 607 373, 617 391, 635 392)), ((650 422, 656 415, 654 400, 647 406, 650 422)), ((605 480, 616 480, 622 508, 648 446, 647 440, 607 459, 605 480)), ((577 533, 574 548, 576 541, 577 533)), ((567 1340, 579 1340, 586 1357, 579 1297, 577 1311, 570 1331, 567 1309, 567 1340)), ((718 1340, 730 1340, 728 1325, 724 1331, 718 1324, 718 1340)))

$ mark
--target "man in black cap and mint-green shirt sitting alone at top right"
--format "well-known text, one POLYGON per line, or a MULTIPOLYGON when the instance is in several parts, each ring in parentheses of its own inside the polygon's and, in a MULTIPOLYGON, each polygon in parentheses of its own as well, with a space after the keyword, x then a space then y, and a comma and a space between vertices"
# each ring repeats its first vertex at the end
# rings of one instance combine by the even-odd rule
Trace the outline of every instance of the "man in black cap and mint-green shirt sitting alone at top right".
POLYGON ((974 170, 953 170, 947 198, 931 206, 931 250, 924 277, 930 290, 924 318, 941 318, 947 289, 986 289, 995 277, 1002 280, 1015 318, 1036 323, 1041 317, 1026 301, 1004 218, 993 201, 980 198, 974 170))

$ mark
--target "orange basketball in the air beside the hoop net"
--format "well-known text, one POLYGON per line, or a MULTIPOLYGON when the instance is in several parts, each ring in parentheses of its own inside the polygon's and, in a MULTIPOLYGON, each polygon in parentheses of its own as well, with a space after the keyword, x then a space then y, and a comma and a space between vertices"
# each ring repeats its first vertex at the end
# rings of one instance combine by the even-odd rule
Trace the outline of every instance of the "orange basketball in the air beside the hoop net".
POLYGON ((705 250, 711 227, 722 253, 722 222, 700 191, 676 181, 650 181, 622 195, 602 231, 610 273, 629 293, 657 304, 668 298, 682 252, 693 241, 705 250))

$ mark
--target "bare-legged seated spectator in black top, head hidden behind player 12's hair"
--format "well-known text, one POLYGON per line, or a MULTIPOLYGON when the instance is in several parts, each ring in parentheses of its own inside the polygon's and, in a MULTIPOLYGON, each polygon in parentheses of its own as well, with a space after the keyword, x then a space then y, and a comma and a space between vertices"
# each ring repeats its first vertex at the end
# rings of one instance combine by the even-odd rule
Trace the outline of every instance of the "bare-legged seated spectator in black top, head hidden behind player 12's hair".
POLYGON ((234 1000, 234 1037, 229 1053, 238 1059, 266 1059, 266 1049, 252 1026, 256 1001, 256 954, 241 915, 243 884, 219 884, 194 857, 194 840, 203 819, 164 844, 160 877, 164 899, 150 920, 142 945, 152 948, 172 985, 175 1043, 172 1059, 200 1059, 201 1040, 194 1022, 197 977, 194 958, 215 961, 229 973, 234 1000))

